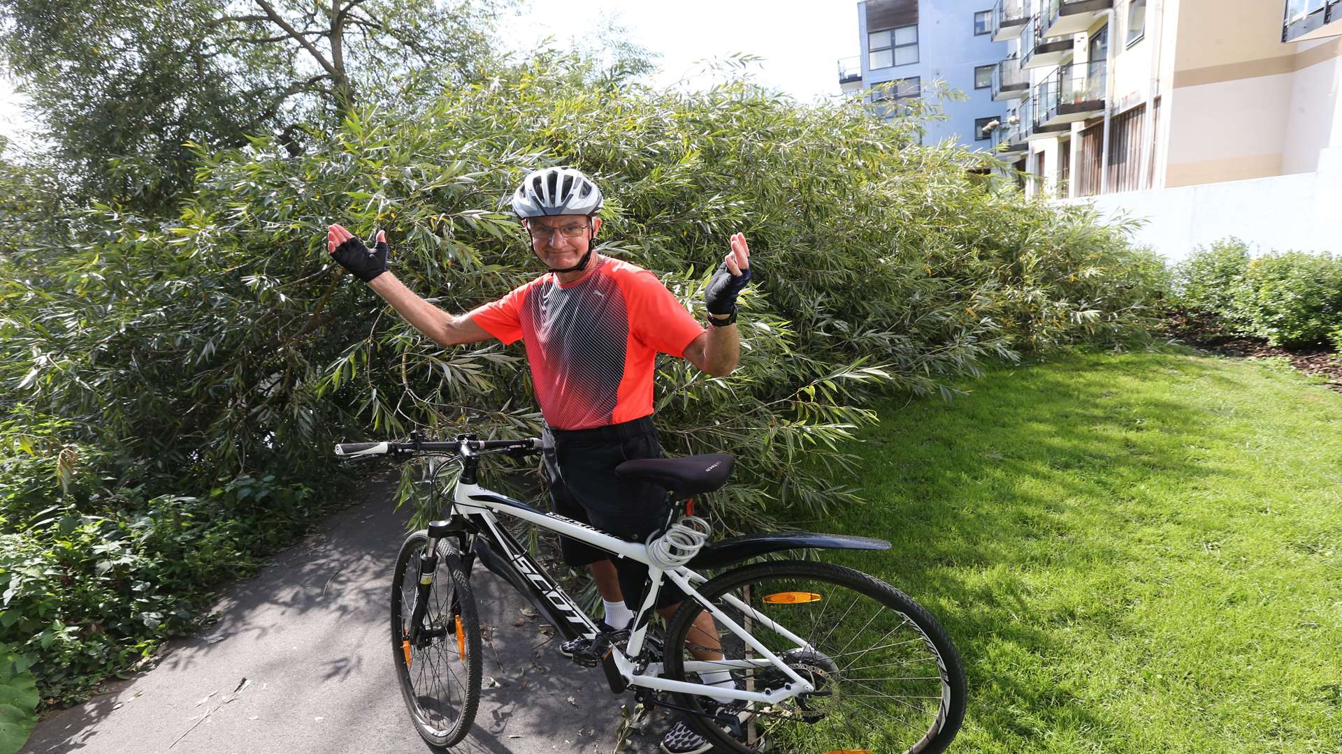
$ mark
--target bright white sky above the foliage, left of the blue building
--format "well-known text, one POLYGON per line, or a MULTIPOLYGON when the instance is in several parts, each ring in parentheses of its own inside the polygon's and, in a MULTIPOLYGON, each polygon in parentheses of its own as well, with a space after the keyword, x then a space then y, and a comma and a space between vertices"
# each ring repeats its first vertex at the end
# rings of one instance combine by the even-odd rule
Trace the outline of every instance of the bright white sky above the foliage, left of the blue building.
MULTIPOLYGON (((505 19, 503 42, 527 48, 545 36, 561 47, 574 40, 596 47, 612 19, 629 40, 659 54, 658 86, 705 85, 699 60, 746 52, 764 58, 753 78, 809 102, 839 94, 836 62, 858 54, 856 0, 530 0, 519 17, 505 19)), ((24 141, 23 102, 0 78, 0 134, 24 141)))

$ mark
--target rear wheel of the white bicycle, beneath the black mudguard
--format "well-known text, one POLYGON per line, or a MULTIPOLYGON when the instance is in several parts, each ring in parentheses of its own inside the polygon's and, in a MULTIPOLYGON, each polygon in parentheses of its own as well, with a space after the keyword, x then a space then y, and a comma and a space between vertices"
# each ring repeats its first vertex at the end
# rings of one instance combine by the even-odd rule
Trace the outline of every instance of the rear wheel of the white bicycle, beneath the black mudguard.
MULTIPOLYGON (((968 698, 960 655, 941 624, 894 586, 837 565, 778 561, 729 570, 701 586, 699 593, 738 625, 746 627, 765 648, 817 687, 813 694, 798 695, 777 706, 746 704, 737 715, 741 720, 737 735, 722 726, 723 720, 711 719, 710 714, 715 710, 711 699, 674 694, 678 704, 698 712, 687 715, 688 722, 718 747, 715 751, 749 754, 769 746, 774 751, 938 754, 956 738, 965 718, 968 698), (812 649, 803 649, 796 641, 758 620, 747 620, 746 613, 723 600, 726 594, 743 600, 777 625, 790 627, 792 633, 804 639, 812 649), (827 621, 825 612, 831 605, 833 613, 827 621), (862 609, 854 614, 859 606, 862 609), (849 616, 852 620, 848 620, 849 616), (894 628, 886 631, 890 625, 894 628), (895 635, 906 628, 909 631, 895 635), (870 639, 875 636, 880 639, 870 639), (886 639, 890 637, 894 641, 887 643, 886 639), (849 651, 855 643, 858 649, 849 651), (867 649, 862 649, 868 644, 867 649), (929 656, 917 656, 923 649, 929 656), (878 651, 879 655, 871 655, 878 651), (891 661, 882 664, 886 656, 891 661), (937 669, 935 676, 933 667, 937 669), (876 672, 876 678, 871 678, 871 672, 876 672), (933 690, 937 687, 938 694, 934 695, 933 690), (905 690, 921 694, 910 695, 905 690), (883 691, 894 694, 882 694, 883 691), (935 711, 933 699, 937 700, 935 711), (926 730, 922 730, 923 722, 926 730), (761 737, 754 739, 754 745, 746 726, 753 726, 754 733, 761 737), (906 729, 909 733, 905 733, 906 729), (738 737, 745 742, 738 741, 738 737)), ((686 600, 671 617, 666 671, 675 680, 702 682, 698 674, 684 671, 684 645, 694 620, 701 613, 706 613, 703 606, 686 600), (672 647, 680 649, 671 651, 672 647)), ((752 657, 753 649, 739 637, 721 625, 718 635, 725 659, 752 657)), ((696 639, 701 636, 702 632, 696 632, 696 639)), ((709 641, 711 644, 711 639, 709 641)), ((754 691, 768 691, 790 682, 790 678, 773 667, 734 668, 731 672, 738 688, 754 691)))

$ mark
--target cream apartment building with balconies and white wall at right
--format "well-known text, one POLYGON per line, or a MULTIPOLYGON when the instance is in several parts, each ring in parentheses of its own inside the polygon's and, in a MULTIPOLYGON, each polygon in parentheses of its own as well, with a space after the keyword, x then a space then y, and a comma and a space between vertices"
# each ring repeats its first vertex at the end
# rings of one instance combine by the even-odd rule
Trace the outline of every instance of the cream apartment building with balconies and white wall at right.
POLYGON ((1342 251, 1342 0, 996 0, 990 38, 1028 192, 1145 217, 1172 256, 1342 251))

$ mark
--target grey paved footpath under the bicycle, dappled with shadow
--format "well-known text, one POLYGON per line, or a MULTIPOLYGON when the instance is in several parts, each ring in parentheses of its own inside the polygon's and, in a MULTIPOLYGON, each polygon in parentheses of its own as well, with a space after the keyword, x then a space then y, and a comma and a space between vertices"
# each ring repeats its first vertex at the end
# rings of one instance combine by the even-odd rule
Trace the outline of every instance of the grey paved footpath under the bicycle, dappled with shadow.
MULTIPOLYGON (((370 484, 321 533, 275 557, 215 605, 220 620, 176 640, 152 669, 46 716, 31 754, 427 754, 391 663, 388 593, 405 535, 392 486, 370 484)), ((471 576, 484 690, 456 753, 612 753, 621 704, 600 668, 558 653, 523 600, 483 568, 471 576), (523 625, 514 623, 523 618, 523 625), (491 682, 493 679, 493 682, 491 682)), ((624 754, 659 751, 671 718, 655 712, 624 754)))

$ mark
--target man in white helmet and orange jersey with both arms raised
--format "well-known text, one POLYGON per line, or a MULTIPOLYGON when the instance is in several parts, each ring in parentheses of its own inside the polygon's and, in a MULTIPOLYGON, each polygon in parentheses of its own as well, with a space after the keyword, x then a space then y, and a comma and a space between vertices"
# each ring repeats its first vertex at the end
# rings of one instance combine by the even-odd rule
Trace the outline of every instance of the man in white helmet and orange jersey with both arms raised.
MULTIPOLYGON (((652 424, 652 374, 658 353, 688 358, 713 376, 730 374, 741 349, 737 295, 750 280, 750 250, 735 233, 730 251, 705 291, 709 327, 647 270, 593 252, 601 229, 603 196, 590 178, 570 168, 527 174, 513 193, 513 212, 531 239, 546 274, 503 298, 451 315, 407 288, 386 271, 386 235, 369 250, 341 225, 327 232, 327 248, 345 268, 369 283, 416 329, 443 346, 498 338, 526 345, 537 401, 553 436, 546 475, 556 513, 617 537, 643 542, 666 521, 664 491, 615 475, 624 460, 660 457, 652 424)), ((564 559, 586 566, 605 604, 603 631, 627 636, 640 606, 647 568, 572 539, 561 539, 564 559)), ((658 609, 670 616, 682 594, 663 588, 658 609)), ((717 631, 707 613, 698 624, 711 647, 717 631)), ((566 641, 572 656, 589 645, 566 641)), ((702 649, 696 649, 699 652, 702 649)), ((714 656, 718 659, 721 655, 714 656)), ((727 686, 726 671, 703 674, 703 683, 727 686)), ((725 700, 723 700, 725 702, 725 700)), ((662 742, 668 754, 707 751, 709 743, 683 722, 662 742)))

